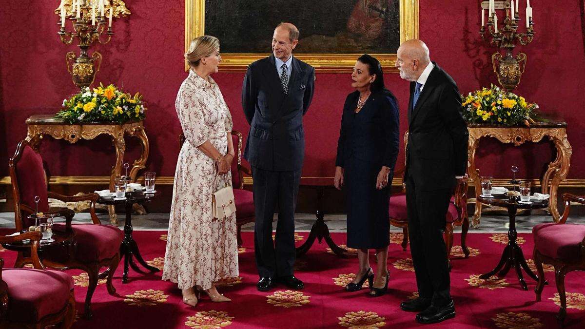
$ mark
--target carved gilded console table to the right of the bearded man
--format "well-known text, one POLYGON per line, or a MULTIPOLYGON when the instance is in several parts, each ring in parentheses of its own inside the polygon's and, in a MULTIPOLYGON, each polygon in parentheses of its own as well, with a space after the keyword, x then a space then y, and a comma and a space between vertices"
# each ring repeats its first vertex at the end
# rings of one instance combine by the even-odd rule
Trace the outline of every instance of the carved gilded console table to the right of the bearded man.
MULTIPOLYGON (((491 136, 502 143, 514 143, 514 146, 521 145, 527 140, 539 142, 543 137, 548 136, 550 142, 555 145, 556 158, 549 163, 546 173, 541 179, 541 192, 550 194, 548 211, 553 220, 557 222, 560 218, 557 207, 557 190, 561 181, 567 178, 570 159, 572 154, 571 145, 567 140, 567 123, 561 121, 536 122, 529 127, 501 127, 490 125, 471 124, 469 130, 469 177, 475 185, 476 196, 481 194, 481 183, 478 170, 475 165, 475 153, 479 140, 482 137, 491 136), (549 186, 550 183, 550 186, 549 186)), ((481 217, 481 202, 476 200, 475 213, 473 214, 473 226, 479 225, 481 217)))

